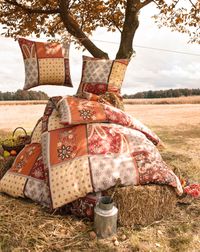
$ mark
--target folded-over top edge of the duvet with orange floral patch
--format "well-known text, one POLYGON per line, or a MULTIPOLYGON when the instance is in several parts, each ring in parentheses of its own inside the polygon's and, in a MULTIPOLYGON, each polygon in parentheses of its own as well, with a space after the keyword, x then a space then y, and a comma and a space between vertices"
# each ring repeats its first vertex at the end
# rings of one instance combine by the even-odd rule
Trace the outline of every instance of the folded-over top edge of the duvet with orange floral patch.
MULTIPOLYGON (((60 123, 63 125, 77 125, 97 122, 109 122, 141 131, 154 144, 160 142, 159 137, 148 127, 134 117, 113 106, 87 99, 66 96, 57 102, 60 123)), ((46 117, 45 119, 46 120, 46 117)))

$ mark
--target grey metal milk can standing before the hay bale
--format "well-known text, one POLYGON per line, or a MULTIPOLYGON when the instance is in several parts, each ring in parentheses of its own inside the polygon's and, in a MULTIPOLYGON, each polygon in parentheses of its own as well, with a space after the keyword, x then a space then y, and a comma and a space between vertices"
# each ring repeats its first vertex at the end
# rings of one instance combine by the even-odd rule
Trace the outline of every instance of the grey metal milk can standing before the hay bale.
POLYGON ((106 238, 117 232, 117 213, 110 196, 100 198, 94 209, 94 228, 98 237, 106 238))

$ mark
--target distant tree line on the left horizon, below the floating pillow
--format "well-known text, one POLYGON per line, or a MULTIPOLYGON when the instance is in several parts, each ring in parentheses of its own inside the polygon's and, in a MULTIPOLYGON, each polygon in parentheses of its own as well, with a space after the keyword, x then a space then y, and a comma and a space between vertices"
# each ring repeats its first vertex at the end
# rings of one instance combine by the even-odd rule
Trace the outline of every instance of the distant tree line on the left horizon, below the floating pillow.
POLYGON ((48 100, 48 98, 48 95, 42 91, 25 91, 21 89, 16 92, 0 91, 0 101, 48 100))

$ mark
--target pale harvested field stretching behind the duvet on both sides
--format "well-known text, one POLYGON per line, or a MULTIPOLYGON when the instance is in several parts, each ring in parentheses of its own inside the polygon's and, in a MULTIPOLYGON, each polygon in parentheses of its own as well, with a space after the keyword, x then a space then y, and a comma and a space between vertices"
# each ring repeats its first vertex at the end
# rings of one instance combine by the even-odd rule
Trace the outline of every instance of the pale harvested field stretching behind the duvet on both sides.
MULTIPOLYGON (((22 126, 31 131, 43 115, 44 108, 45 104, 0 106, 0 130, 12 131, 17 126, 22 126)), ((200 123, 200 104, 126 104, 125 110, 151 127, 200 123)))

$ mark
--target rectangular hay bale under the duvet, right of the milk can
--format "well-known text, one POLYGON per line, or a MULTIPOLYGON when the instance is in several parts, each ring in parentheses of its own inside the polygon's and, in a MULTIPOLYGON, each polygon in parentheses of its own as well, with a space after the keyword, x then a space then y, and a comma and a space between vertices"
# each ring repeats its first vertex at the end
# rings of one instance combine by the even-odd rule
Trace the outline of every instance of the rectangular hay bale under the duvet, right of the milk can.
MULTIPOLYGON (((106 194, 111 195, 113 188, 106 194)), ((149 225, 169 216, 176 205, 176 193, 166 185, 128 186, 116 189, 114 202, 122 226, 149 225)))

